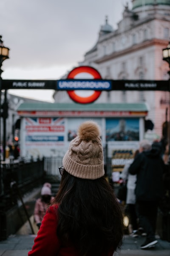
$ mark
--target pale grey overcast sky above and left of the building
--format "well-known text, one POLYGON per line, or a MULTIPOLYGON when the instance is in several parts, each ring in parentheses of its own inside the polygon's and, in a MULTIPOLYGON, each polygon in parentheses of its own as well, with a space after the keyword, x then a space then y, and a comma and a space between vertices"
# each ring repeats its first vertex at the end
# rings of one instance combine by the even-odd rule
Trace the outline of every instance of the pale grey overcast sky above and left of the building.
MULTIPOLYGON (((108 23, 117 28, 131 0, 0 0, 0 35, 10 48, 3 79, 57 80, 78 65, 108 23)), ((53 102, 50 90, 9 90, 53 102)))

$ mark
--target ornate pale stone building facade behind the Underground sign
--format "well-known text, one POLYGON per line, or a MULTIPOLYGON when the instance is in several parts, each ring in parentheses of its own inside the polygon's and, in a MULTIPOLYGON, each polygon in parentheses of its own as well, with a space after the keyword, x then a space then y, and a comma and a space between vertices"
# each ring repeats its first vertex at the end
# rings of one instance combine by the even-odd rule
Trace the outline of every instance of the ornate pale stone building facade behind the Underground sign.
MULTIPOLYGON (((117 29, 106 17, 96 44, 79 65, 96 68, 103 79, 168 80, 169 67, 162 60, 162 49, 169 38, 170 0, 132 0, 132 9, 125 6, 117 29)), ((103 91, 96 103, 146 102, 147 119, 154 123, 156 136, 161 137, 169 99, 169 92, 163 91, 103 91)), ((56 91, 54 100, 71 102, 65 91, 56 91)))

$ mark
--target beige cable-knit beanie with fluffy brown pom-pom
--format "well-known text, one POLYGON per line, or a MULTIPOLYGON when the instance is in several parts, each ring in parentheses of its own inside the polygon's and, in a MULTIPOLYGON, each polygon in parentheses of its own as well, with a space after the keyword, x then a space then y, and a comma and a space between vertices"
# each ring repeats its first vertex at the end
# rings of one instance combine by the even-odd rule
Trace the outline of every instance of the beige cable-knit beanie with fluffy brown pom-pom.
POLYGON ((75 177, 95 180, 104 176, 102 141, 96 122, 86 121, 79 126, 77 137, 71 141, 62 164, 75 177))

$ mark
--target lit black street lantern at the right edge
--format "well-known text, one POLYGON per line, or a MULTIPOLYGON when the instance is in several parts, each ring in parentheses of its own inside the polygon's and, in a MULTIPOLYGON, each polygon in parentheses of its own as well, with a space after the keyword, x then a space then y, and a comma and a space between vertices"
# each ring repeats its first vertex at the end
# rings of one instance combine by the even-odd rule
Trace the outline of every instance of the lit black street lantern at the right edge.
MULTIPOLYGON (((162 57, 164 61, 167 61, 170 67, 170 42, 167 48, 162 49, 162 57)), ((170 76, 170 70, 167 73, 170 76)), ((169 82, 170 82, 170 78, 169 78, 169 82)), ((169 83, 169 93, 170 93, 170 83, 169 83)), ((169 102, 169 105, 170 105, 170 102, 169 102)), ((170 118, 170 106, 169 106, 169 118, 170 118)), ((170 164, 170 119, 168 122, 168 143, 169 143, 169 164, 170 164)))

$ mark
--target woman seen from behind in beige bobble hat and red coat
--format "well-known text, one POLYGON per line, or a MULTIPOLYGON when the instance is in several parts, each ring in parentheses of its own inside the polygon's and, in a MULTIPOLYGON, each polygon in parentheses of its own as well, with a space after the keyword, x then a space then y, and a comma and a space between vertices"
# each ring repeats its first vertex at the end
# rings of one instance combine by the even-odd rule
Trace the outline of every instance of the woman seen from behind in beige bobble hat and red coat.
POLYGON ((83 122, 59 167, 59 191, 28 256, 112 256, 122 244, 123 216, 105 179, 100 128, 83 122))

